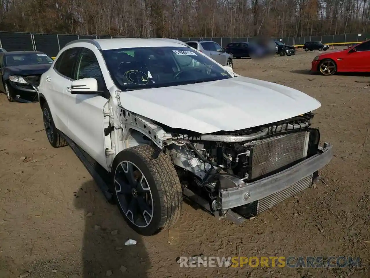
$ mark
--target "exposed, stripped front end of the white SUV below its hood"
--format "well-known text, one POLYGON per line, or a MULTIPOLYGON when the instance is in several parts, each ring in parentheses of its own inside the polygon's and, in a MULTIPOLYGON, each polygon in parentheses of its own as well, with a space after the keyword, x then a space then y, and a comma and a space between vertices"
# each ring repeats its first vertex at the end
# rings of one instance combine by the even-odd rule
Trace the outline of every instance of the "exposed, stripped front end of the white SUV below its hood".
POLYGON ((319 146, 319 130, 310 127, 313 113, 214 134, 170 128, 124 109, 120 116, 126 148, 132 146, 127 130, 144 134, 171 156, 185 196, 239 223, 311 186, 333 156, 332 146, 319 146))

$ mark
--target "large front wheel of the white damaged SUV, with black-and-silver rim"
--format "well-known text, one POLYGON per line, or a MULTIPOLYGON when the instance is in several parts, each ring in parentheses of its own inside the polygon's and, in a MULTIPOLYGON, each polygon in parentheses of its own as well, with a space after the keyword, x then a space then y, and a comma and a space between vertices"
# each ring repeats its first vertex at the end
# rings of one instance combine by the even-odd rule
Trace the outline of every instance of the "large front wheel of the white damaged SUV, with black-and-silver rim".
POLYGON ((111 173, 114 201, 138 234, 155 235, 178 221, 182 188, 168 155, 148 145, 128 148, 114 158, 111 173))

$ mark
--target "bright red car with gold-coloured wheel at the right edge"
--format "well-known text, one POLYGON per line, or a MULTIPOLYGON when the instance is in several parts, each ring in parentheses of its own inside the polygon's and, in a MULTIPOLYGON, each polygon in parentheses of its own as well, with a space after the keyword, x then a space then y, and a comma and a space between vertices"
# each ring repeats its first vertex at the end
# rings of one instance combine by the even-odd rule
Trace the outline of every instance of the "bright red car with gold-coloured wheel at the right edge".
POLYGON ((336 72, 370 72, 370 40, 350 48, 314 57, 312 72, 333 75, 336 72))

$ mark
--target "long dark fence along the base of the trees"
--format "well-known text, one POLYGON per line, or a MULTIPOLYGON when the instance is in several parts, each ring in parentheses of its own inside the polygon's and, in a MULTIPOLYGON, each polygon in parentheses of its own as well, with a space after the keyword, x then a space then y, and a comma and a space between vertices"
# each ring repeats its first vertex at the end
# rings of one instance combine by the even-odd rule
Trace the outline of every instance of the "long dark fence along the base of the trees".
MULTIPOLYGON (((60 35, 60 34, 38 34, 38 33, 16 33, 0 32, 0 46, 7 51, 41 51, 51 57, 57 56, 60 49, 65 44, 77 39, 110 39, 110 38, 139 38, 139 37, 117 37, 117 36, 87 36, 87 35, 60 35)), ((331 36, 311 36, 311 37, 275 37, 275 40, 282 39, 287 45, 303 46, 305 42, 315 41, 330 45, 346 45, 363 42, 370 38, 370 33, 363 34, 342 34, 331 36)), ((222 47, 228 43, 248 42, 248 37, 185 37, 172 38, 178 40, 213 40, 222 47)))

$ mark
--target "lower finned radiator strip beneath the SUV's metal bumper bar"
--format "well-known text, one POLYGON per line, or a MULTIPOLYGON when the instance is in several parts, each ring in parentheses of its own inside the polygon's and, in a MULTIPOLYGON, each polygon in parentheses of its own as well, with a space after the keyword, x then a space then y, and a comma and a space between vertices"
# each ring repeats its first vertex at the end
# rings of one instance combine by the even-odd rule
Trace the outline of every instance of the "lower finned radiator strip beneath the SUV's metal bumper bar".
POLYGON ((282 191, 276 192, 274 194, 271 194, 270 196, 258 200, 256 215, 272 208, 273 206, 286 200, 287 198, 294 196, 298 192, 305 190, 311 185, 311 182, 312 175, 309 175, 282 191))

